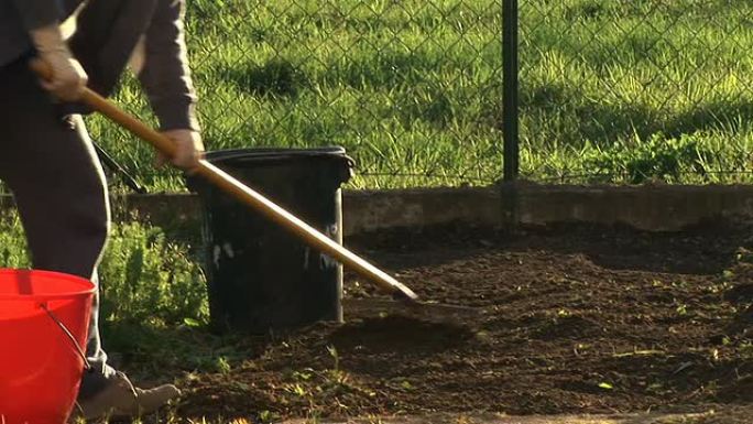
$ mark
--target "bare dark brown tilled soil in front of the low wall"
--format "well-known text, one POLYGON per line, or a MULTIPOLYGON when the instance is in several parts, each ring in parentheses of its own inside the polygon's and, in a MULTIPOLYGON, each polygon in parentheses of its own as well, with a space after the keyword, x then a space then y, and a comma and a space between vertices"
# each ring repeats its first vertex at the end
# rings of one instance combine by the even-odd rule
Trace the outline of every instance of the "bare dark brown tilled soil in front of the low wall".
MULTIPOLYGON (((245 340, 232 367, 182 381, 179 416, 620 414, 753 402, 745 222, 674 233, 448 227, 347 243, 422 298, 481 314, 346 311, 342 325, 245 340)), ((348 274, 346 296, 378 294, 348 274)), ((742 411, 724 422, 753 423, 742 411)))

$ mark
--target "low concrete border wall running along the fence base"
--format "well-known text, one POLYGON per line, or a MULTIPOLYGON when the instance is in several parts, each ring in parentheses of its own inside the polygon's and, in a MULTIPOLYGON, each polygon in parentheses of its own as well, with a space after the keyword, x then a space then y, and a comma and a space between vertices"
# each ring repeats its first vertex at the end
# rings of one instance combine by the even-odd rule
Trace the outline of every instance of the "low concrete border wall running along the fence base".
MULTIPOLYGON (((201 204, 190 194, 114 196, 116 208, 156 225, 197 225, 201 204)), ((0 197, 0 208, 11 207, 0 197)), ((346 191, 345 235, 452 222, 506 227, 581 221, 679 230, 703 220, 753 216, 753 186, 567 186, 346 191)))

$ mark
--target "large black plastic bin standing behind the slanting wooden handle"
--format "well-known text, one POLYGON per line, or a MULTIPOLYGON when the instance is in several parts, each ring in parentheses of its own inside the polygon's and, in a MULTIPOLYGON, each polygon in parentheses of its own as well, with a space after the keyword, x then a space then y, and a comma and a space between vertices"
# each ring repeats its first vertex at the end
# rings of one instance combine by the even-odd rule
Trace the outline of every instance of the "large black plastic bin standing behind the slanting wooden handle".
MULTIPOLYGON (((243 149, 207 160, 331 239, 342 242, 342 148, 243 149)), ((342 267, 200 177, 205 272, 212 327, 261 334, 342 320, 342 267)))

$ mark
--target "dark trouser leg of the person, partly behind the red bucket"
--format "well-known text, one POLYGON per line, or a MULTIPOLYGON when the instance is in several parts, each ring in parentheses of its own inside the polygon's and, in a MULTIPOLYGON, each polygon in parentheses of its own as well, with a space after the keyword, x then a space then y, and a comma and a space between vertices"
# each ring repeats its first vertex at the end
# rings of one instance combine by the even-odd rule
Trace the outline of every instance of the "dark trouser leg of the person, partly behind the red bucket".
MULTIPOLYGON (((34 269, 97 283, 110 226, 107 184, 80 116, 62 108, 28 69, 26 58, 0 67, 0 180, 9 186, 34 269)), ((107 366, 95 296, 79 399, 97 393, 114 371, 107 366)))

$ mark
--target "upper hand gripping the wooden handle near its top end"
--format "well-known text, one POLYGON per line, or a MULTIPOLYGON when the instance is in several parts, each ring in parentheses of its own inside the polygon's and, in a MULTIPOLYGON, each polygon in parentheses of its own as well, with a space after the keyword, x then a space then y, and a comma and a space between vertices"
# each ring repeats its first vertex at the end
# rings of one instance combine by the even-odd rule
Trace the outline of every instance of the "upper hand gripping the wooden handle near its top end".
POLYGON ((88 77, 81 64, 73 57, 70 50, 68 50, 59 25, 43 26, 30 31, 30 35, 39 57, 46 62, 53 70, 53 78, 43 80, 42 87, 62 100, 78 100, 88 83, 88 77))

